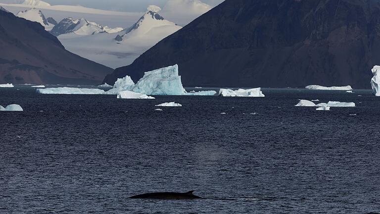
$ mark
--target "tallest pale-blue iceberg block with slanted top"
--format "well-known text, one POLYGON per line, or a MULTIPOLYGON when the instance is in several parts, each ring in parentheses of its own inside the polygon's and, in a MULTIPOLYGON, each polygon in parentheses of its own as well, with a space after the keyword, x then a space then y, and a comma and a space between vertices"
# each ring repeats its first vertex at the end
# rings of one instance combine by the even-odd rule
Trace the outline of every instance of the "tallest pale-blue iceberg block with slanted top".
POLYGON ((145 72, 144 76, 133 88, 134 92, 147 95, 185 95, 178 65, 164 67, 145 72))

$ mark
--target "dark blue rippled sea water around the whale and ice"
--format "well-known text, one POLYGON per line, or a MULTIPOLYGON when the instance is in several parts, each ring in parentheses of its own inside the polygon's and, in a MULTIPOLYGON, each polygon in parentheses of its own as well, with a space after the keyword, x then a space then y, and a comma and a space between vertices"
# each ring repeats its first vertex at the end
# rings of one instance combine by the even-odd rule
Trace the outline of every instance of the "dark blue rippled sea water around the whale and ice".
POLYGON ((1 214, 380 213, 380 97, 370 91, 117 100, 18 89, 0 89, 0 105, 24 108, 0 112, 1 214), (316 111, 298 99, 357 107, 316 111), (154 111, 172 101, 183 107, 154 111), (128 199, 189 190, 232 200, 128 199))

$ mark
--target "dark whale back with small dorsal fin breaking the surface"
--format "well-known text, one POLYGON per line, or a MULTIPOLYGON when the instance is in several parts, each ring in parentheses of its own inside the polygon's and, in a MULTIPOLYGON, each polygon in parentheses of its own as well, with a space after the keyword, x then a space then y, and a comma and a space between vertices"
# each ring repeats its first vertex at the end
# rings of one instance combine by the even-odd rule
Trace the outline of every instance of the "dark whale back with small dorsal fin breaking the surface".
POLYGON ((130 199, 162 199, 162 200, 193 200, 193 199, 202 199, 199 196, 193 194, 194 190, 191 190, 186 193, 178 192, 154 192, 154 193, 145 193, 141 195, 135 195, 129 197, 130 199))

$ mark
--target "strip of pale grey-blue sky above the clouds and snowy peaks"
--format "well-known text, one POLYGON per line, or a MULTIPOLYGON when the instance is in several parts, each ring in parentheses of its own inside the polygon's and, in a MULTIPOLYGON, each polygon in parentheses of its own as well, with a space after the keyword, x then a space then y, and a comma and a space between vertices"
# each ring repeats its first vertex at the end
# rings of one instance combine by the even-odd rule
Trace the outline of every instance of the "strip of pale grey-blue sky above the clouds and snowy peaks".
MULTIPOLYGON (((149 4, 163 7, 166 0, 44 0, 52 5, 54 4, 72 4, 92 7, 97 9, 126 11, 126 12, 143 12, 149 4)), ((224 0, 202 0, 202 2, 216 6, 224 0)))

